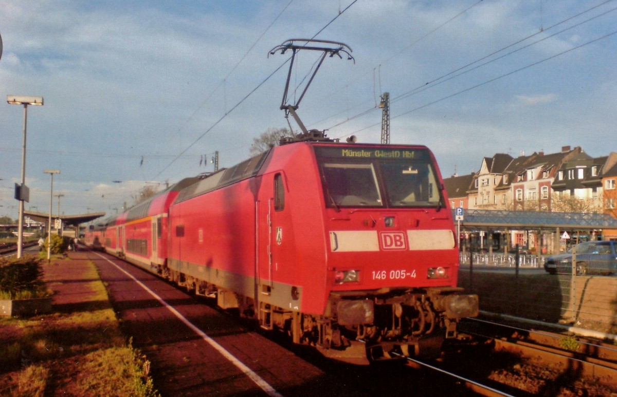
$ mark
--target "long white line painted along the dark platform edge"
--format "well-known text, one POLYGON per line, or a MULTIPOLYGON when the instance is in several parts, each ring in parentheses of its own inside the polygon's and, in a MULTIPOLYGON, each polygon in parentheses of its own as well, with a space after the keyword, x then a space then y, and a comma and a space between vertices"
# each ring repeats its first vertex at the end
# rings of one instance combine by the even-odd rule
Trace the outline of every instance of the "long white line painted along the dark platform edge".
POLYGON ((161 305, 165 306, 165 308, 167 308, 176 317, 178 317, 178 319, 180 319, 180 321, 182 321, 184 324, 186 324, 186 326, 188 326, 191 330, 193 330, 193 332, 195 332, 197 335, 199 335, 205 342, 209 343, 210 346, 215 348, 218 351, 218 353, 221 353, 223 355, 223 357, 225 357, 226 359, 231 361, 234 364, 234 366, 238 367, 238 369, 241 370, 243 374, 245 374, 247 377, 251 378, 251 380, 253 382, 255 382, 255 384, 257 384, 257 386, 262 388, 262 390, 265 391, 268 394, 268 396, 283 397, 283 395, 281 395, 281 393, 276 391, 275 388, 271 387, 271 385, 268 382, 266 382, 265 380, 263 380, 262 377, 260 377, 259 375, 255 374, 255 372, 253 372, 252 369, 250 369, 249 367, 244 365, 244 363, 242 361, 237 359, 229 351, 225 350, 225 348, 223 348, 223 346, 219 345, 215 340, 213 340, 208 335, 206 335, 205 332, 203 332, 201 329, 197 328, 197 326, 194 325, 192 322, 188 321, 188 319, 186 319, 186 317, 184 317, 182 314, 180 314, 180 312, 178 312, 172 306, 168 305, 168 303, 165 302, 161 297, 159 297, 159 295, 157 295, 154 291, 152 291, 151 289, 146 287, 146 285, 144 285, 143 282, 141 282, 138 279, 136 279, 135 277, 133 277, 132 274, 130 274, 129 272, 125 271, 125 269, 120 268, 120 266, 118 266, 114 262, 110 261, 105 256, 102 256, 101 254, 99 254, 97 252, 95 252, 95 253, 96 253, 96 255, 100 256, 101 258, 103 258, 107 262, 109 262, 112 265, 114 265, 115 268, 117 268, 118 270, 120 270, 121 272, 126 274, 126 276, 130 277, 131 279, 133 279, 133 281, 135 281, 141 288, 146 290, 147 293, 149 293, 150 295, 152 295, 152 297, 154 297, 157 301, 159 301, 161 303, 161 305))

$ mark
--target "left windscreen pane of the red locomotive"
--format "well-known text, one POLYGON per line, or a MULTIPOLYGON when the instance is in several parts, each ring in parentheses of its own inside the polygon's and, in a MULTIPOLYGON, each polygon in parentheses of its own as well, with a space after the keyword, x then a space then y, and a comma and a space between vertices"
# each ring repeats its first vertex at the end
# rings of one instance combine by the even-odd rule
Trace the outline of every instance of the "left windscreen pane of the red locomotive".
POLYGON ((326 200, 333 207, 377 207, 381 194, 373 164, 324 163, 326 200))

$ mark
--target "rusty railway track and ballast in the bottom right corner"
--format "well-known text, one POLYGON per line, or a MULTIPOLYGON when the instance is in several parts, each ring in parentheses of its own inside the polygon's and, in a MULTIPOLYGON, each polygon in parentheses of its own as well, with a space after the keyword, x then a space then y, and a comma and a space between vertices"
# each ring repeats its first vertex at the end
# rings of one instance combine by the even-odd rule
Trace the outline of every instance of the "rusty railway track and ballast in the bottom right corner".
POLYGON ((473 348, 452 346, 437 369, 480 395, 617 393, 617 345, 482 320, 466 321, 461 332, 473 336, 473 348))

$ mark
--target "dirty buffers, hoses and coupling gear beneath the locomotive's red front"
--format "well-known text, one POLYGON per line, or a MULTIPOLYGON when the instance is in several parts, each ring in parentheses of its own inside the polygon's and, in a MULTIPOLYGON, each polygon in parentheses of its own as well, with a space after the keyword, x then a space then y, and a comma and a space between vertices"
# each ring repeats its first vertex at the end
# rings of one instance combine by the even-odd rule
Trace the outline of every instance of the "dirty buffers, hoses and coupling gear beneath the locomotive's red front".
POLYGON ((458 333, 458 321, 478 316, 478 295, 461 292, 458 287, 379 291, 363 297, 339 292, 331 295, 332 313, 315 321, 311 342, 325 356, 354 364, 437 358, 446 340, 469 338, 458 333))

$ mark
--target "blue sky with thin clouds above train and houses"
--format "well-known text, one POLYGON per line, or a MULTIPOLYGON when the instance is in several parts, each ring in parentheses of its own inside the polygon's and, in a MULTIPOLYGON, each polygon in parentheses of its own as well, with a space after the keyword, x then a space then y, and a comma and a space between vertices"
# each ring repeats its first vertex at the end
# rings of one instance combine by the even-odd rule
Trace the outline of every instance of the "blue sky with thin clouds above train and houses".
MULTIPOLYGON (((495 153, 617 151, 617 1, 230 0, 0 2, 0 216, 17 218, 23 107, 27 210, 114 215, 146 186, 250 156, 288 128, 288 39, 337 41, 297 113, 329 137, 428 146, 444 178, 495 153)), ((318 57, 298 52, 297 100, 318 57)), ((299 128, 291 118, 292 128, 299 128)))

